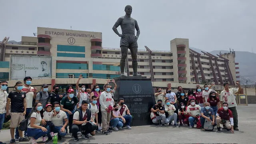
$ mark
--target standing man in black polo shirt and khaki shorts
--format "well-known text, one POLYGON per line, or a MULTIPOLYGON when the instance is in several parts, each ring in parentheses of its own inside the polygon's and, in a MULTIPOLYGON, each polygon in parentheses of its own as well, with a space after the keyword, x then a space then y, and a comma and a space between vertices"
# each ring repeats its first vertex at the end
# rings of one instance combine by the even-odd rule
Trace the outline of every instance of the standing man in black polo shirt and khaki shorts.
MULTIPOLYGON (((26 115, 26 93, 22 92, 23 84, 22 82, 16 82, 15 91, 12 91, 8 95, 7 104, 6 104, 6 116, 9 115, 9 106, 11 106, 11 123, 10 123, 10 132, 12 139, 10 143, 15 143, 14 139, 14 130, 19 126, 20 122, 25 119, 26 115)), ((27 139, 22 137, 22 131, 19 132, 19 142, 24 142, 27 139)))

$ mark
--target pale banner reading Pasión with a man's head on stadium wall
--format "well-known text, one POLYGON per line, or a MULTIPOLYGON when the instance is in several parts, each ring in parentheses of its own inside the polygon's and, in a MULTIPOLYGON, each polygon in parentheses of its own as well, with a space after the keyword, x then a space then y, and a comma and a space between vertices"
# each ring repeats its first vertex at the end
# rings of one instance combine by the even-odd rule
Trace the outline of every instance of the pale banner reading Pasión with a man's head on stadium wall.
POLYGON ((50 56, 11 56, 10 79, 23 79, 25 76, 49 78, 51 63, 50 56))

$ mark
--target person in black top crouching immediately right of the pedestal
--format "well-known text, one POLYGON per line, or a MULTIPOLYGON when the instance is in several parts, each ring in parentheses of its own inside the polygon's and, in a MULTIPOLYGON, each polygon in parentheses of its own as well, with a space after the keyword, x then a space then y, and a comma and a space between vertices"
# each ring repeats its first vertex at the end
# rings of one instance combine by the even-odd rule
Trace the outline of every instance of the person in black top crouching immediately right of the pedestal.
POLYGON ((154 124, 159 124, 161 122, 162 126, 164 126, 166 116, 165 116, 165 112, 164 112, 164 106, 162 105, 162 100, 157 101, 157 104, 155 104, 151 108, 151 112, 153 112, 155 115, 153 118, 151 118, 152 122, 154 124))

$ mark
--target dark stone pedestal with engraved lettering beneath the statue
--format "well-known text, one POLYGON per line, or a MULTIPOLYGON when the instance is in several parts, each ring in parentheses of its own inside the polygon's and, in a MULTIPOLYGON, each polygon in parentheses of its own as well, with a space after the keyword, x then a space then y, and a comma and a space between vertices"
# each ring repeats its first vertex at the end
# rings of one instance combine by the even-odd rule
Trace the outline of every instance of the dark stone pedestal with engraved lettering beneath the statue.
POLYGON ((155 103, 154 91, 150 78, 144 76, 127 76, 114 78, 117 90, 114 99, 124 98, 132 115, 131 126, 152 124, 150 109, 155 103))

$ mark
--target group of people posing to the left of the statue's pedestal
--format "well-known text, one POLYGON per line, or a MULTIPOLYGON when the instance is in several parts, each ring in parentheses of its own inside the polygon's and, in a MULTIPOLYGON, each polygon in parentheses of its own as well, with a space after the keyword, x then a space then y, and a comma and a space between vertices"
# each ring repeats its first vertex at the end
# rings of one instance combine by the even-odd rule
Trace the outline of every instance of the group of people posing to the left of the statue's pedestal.
POLYGON ((26 76, 23 82, 16 82, 14 91, 7 92, 8 82, 0 82, 0 130, 4 120, 10 118, 10 143, 30 140, 35 144, 42 137, 50 142, 54 134, 61 140, 71 133, 74 141, 78 137, 88 139, 102 132, 108 135, 112 130, 118 131, 130 127, 132 116, 124 99, 114 102, 114 88, 104 85, 104 90, 95 84, 92 90, 80 84, 82 75, 76 82, 76 92, 72 85, 66 86, 66 93, 59 93, 60 87, 54 85, 49 92, 48 85, 42 84, 41 90, 32 87, 32 78, 26 76), (20 123, 28 121, 26 130, 20 130, 20 123), (48 139, 46 139, 46 136, 48 139))

